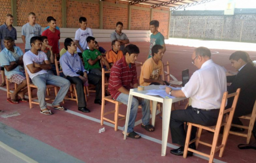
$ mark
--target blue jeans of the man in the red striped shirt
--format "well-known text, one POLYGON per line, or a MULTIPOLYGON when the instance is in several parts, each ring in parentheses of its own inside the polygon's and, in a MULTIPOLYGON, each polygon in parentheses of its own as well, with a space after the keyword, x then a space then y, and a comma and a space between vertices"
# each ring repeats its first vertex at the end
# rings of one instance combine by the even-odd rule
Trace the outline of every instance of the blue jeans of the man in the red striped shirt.
MULTIPOLYGON (((121 103, 127 105, 128 104, 129 95, 121 93, 116 100, 120 101, 121 103)), ((137 111, 139 104, 142 106, 142 123, 143 125, 149 125, 150 120, 150 100, 142 99, 138 101, 136 98, 132 98, 132 105, 131 105, 131 112, 129 117, 128 129, 127 133, 132 133, 135 120, 137 117, 137 111)))

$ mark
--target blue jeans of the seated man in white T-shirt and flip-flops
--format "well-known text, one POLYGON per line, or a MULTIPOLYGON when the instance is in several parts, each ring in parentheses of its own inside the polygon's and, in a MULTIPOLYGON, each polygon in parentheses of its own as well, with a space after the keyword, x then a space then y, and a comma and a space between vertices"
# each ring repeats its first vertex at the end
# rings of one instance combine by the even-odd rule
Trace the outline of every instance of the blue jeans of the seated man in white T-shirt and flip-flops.
POLYGON ((68 89, 70 88, 70 81, 63 77, 51 75, 48 73, 33 77, 32 82, 35 86, 37 86, 37 97, 41 110, 46 108, 46 84, 51 84, 61 88, 52 103, 53 106, 59 105, 62 102, 67 94, 68 89))

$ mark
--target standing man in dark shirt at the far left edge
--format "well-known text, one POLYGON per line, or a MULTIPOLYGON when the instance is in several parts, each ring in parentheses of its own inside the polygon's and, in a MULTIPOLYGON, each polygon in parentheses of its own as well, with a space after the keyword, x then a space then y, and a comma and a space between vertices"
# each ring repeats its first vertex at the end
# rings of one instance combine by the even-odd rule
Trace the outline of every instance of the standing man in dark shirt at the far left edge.
MULTIPOLYGON (((5 48, 4 46, 4 38, 6 36, 11 36, 13 39, 17 39, 16 29, 13 27, 13 15, 7 14, 5 24, 0 26, 0 40, 1 40, 1 51, 5 48)), ((15 45, 15 44, 14 44, 15 45)), ((1 67, 1 75, 2 75, 2 87, 5 86, 5 75, 4 75, 4 67, 1 67)))

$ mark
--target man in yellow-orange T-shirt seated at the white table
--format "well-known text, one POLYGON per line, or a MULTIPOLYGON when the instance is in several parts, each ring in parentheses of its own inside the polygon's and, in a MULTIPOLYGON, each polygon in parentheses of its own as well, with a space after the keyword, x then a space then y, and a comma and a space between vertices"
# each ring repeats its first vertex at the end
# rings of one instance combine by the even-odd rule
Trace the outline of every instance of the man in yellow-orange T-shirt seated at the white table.
POLYGON ((140 85, 166 85, 161 79, 163 75, 163 47, 154 45, 152 47, 152 57, 147 59, 141 68, 140 85))

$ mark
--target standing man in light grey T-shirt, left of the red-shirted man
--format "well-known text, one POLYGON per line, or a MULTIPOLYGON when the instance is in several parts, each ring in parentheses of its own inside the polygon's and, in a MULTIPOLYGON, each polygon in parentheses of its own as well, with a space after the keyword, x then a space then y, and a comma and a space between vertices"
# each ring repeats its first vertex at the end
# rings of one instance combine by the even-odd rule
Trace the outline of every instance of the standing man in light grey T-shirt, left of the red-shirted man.
POLYGON ((33 36, 41 36, 42 35, 42 27, 35 23, 36 15, 31 12, 28 14, 29 22, 22 26, 22 40, 25 43, 25 53, 31 49, 30 39, 33 36))

